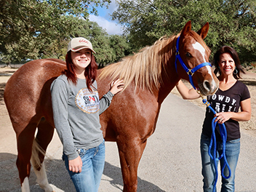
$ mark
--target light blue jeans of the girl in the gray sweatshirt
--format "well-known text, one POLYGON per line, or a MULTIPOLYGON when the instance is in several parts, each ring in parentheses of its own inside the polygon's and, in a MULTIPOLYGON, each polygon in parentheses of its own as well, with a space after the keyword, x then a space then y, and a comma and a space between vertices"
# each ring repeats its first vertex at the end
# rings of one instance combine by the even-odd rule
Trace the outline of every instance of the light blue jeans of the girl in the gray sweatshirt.
POLYGON ((65 168, 68 170, 71 180, 79 192, 97 192, 100 186, 101 176, 105 165, 105 140, 96 148, 79 148, 79 156, 83 162, 81 172, 71 172, 68 169, 68 156, 63 154, 65 168))

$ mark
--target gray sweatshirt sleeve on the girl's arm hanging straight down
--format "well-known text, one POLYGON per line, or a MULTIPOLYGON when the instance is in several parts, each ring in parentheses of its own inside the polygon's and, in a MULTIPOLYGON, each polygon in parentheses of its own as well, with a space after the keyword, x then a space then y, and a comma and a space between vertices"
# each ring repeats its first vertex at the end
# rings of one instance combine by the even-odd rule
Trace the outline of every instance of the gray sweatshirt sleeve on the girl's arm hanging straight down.
POLYGON ((63 151, 68 160, 76 159, 78 153, 73 143, 73 134, 68 123, 69 88, 63 79, 55 79, 51 85, 52 111, 57 134, 63 143, 63 151))

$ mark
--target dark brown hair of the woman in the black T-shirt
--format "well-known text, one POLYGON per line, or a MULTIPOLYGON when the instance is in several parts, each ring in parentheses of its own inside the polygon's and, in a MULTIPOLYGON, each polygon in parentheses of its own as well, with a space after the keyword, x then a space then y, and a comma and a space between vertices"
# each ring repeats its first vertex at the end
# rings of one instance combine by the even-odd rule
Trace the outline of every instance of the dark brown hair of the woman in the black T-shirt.
POLYGON ((215 75, 219 72, 220 73, 220 68, 218 62, 220 61, 220 55, 223 53, 229 53, 231 57, 233 58, 235 65, 236 65, 236 70, 237 73, 233 73, 233 77, 235 79, 241 79, 240 72, 245 73, 244 70, 241 68, 241 63, 239 60, 239 55, 237 54, 236 50, 233 49, 232 47, 229 46, 223 46, 220 47, 219 50, 215 53, 213 60, 212 60, 212 66, 215 66, 215 75))

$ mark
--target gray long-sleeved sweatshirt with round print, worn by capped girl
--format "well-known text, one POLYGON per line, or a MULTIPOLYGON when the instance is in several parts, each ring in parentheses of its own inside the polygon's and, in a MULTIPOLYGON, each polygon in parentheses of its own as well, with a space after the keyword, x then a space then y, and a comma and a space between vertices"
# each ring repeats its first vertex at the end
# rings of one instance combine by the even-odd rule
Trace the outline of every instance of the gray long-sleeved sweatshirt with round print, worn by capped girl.
POLYGON ((111 104, 113 94, 108 92, 99 100, 96 81, 93 87, 89 92, 86 79, 77 79, 74 85, 65 75, 52 82, 55 128, 68 160, 78 157, 76 148, 95 148, 103 142, 99 115, 111 104))

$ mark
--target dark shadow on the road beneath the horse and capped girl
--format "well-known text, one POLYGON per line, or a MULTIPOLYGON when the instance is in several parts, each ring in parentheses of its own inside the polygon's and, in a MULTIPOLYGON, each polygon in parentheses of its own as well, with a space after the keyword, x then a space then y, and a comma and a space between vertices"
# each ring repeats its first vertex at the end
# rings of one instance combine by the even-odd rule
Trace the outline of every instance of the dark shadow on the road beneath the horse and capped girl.
MULTIPOLYGON (((2 192, 20 191, 20 180, 16 167, 16 159, 17 156, 12 153, 0 153, 0 191, 2 192)), ((62 160, 46 159, 45 165, 47 168, 47 177, 49 183, 55 185, 55 187, 58 189, 57 191, 75 191, 73 183, 70 180, 62 160)), ((121 169, 119 167, 105 162, 103 175, 111 178, 111 180, 109 180, 109 185, 119 188, 119 190, 122 191, 123 180, 121 177, 121 169)), ((34 174, 33 170, 31 170, 29 184, 31 185, 31 191, 43 192, 43 190, 36 183, 36 175, 34 174)), ((149 183, 146 180, 141 180, 140 177, 138 177, 137 191, 164 192, 161 190, 161 188, 153 183, 149 183)))

